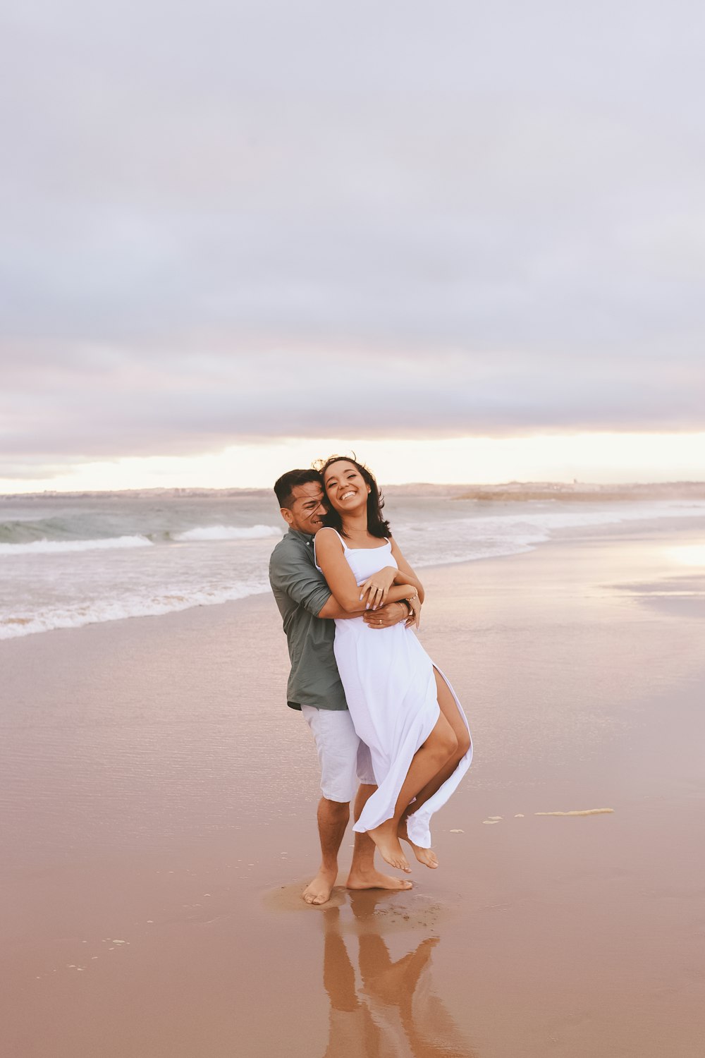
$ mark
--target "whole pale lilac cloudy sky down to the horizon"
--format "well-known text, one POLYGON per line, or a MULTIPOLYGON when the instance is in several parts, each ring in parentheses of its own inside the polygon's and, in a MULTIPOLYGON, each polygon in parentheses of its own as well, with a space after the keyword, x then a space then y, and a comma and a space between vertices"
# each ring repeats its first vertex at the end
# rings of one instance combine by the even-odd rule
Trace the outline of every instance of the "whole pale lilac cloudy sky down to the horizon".
POLYGON ((1 19, 3 491, 705 478, 701 4, 1 19))

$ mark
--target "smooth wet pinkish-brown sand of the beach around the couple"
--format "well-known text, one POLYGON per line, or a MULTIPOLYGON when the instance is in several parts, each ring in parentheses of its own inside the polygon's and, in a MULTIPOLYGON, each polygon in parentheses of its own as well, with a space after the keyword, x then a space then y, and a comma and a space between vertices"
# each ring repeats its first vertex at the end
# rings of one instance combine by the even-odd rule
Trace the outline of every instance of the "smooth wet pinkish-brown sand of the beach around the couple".
POLYGON ((424 571, 476 758, 326 909, 268 597, 0 643, 2 1053, 702 1058, 704 529, 424 571))

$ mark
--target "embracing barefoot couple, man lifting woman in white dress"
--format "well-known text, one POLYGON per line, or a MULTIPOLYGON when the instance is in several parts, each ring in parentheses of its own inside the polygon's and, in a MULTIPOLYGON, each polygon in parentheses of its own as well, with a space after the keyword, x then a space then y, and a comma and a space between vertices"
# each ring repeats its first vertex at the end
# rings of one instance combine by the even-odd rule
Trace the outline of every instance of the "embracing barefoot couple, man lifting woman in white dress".
POLYGON ((289 525, 270 563, 292 664, 287 700, 303 712, 321 767, 321 865, 304 899, 330 899, 353 798, 348 888, 408 889, 375 870, 375 846, 405 873, 400 839, 438 867, 430 819, 472 754, 460 703, 414 633, 423 586, 355 459, 290 471, 275 493, 289 525))

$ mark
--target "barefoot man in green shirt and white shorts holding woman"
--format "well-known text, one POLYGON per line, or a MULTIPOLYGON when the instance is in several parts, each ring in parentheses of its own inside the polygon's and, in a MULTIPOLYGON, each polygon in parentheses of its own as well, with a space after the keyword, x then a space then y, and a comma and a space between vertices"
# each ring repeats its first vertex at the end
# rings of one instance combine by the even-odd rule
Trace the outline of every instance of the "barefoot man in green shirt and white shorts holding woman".
MULTIPOLYGON (((320 475, 314 470, 291 470, 275 482, 274 491, 289 526, 270 560, 270 583, 283 620, 292 663, 287 705, 303 713, 321 768, 321 862, 318 874, 303 891, 303 899, 307 904, 326 904, 338 873, 338 851, 350 820, 350 802, 354 797, 354 817, 358 819, 376 788, 370 752, 355 734, 335 664, 333 619, 363 617, 369 621, 372 612, 344 610, 316 569, 313 537, 324 512, 320 475)), ((406 603, 391 603, 375 609, 370 627, 388 627, 408 617, 406 603)), ((410 881, 375 870, 374 849, 367 834, 355 834, 348 889, 410 889, 410 881)))

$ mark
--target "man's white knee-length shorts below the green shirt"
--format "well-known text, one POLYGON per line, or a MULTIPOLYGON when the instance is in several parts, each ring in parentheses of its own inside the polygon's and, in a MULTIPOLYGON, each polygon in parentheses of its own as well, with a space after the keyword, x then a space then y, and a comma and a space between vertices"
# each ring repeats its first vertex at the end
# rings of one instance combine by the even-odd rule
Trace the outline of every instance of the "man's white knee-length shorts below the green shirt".
POLYGON ((375 785, 370 750, 355 734, 347 709, 315 709, 301 712, 316 740, 320 764, 320 792, 327 801, 352 801, 359 783, 375 785))

